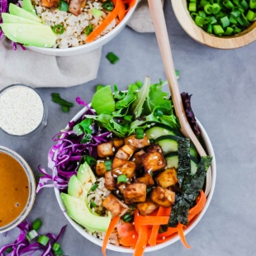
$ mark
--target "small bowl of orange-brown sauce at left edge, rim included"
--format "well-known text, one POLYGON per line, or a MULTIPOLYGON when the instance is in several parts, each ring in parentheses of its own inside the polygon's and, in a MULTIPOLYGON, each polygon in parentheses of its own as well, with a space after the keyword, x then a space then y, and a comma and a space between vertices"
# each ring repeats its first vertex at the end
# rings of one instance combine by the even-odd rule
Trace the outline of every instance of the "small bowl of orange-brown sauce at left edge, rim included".
POLYGON ((0 146, 0 233, 16 227, 31 211, 36 183, 19 154, 0 146))

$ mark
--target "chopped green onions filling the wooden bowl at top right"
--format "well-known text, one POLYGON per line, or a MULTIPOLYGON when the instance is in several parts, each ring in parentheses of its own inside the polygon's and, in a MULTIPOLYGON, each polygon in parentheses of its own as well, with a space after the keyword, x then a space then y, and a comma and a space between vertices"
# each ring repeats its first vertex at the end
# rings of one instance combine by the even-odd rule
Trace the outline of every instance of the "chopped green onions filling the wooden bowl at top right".
POLYGON ((256 0, 189 0, 197 26, 216 36, 234 36, 256 20, 256 0))

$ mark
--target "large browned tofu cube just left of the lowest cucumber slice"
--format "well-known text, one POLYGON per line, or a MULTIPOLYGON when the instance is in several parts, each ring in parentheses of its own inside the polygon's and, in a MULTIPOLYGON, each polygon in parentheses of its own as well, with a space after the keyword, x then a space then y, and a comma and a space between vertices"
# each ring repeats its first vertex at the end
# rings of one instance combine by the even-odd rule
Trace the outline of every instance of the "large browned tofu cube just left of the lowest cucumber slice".
POLYGON ((166 161, 162 153, 155 151, 142 155, 142 165, 145 168, 145 173, 150 173, 163 169, 166 166, 166 161))

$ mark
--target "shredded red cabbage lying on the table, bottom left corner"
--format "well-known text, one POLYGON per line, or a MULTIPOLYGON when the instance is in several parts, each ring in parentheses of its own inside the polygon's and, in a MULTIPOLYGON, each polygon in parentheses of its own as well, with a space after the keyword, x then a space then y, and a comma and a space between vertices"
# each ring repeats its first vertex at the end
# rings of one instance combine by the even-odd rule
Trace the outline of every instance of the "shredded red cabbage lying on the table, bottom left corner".
POLYGON ((26 235, 29 231, 32 230, 31 223, 29 220, 22 221, 17 227, 20 229, 20 235, 18 235, 17 239, 12 244, 6 244, 2 246, 0 249, 0 256, 22 256, 22 255, 32 255, 37 251, 41 251, 44 256, 54 256, 54 252, 52 251, 52 246, 61 238, 66 229, 66 225, 62 227, 59 231, 59 235, 55 236, 54 234, 48 233, 46 236, 50 238, 48 244, 46 246, 39 244, 38 242, 30 242, 26 235), (8 249, 12 249, 12 252, 7 253, 8 249), (27 254, 30 253, 30 254, 27 254))

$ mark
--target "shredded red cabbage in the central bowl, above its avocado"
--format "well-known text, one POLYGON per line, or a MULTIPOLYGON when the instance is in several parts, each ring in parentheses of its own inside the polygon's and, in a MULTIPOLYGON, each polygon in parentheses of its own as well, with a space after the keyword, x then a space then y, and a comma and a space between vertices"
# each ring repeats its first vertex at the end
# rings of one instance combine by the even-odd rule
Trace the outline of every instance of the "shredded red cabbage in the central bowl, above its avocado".
POLYGON ((68 130, 62 130, 54 136, 53 140, 57 144, 51 147, 48 154, 48 167, 52 170, 52 174, 47 173, 45 168, 39 166, 40 173, 44 176, 40 177, 36 192, 40 192, 42 187, 58 187, 59 190, 67 188, 69 178, 78 172, 80 159, 85 155, 97 158, 97 145, 107 142, 111 137, 110 131, 103 131, 92 123, 91 140, 86 144, 80 144, 83 135, 76 135, 72 128, 83 121, 84 115, 95 115, 96 112, 79 97, 76 98, 76 101, 87 110, 78 121, 69 122, 68 130))

